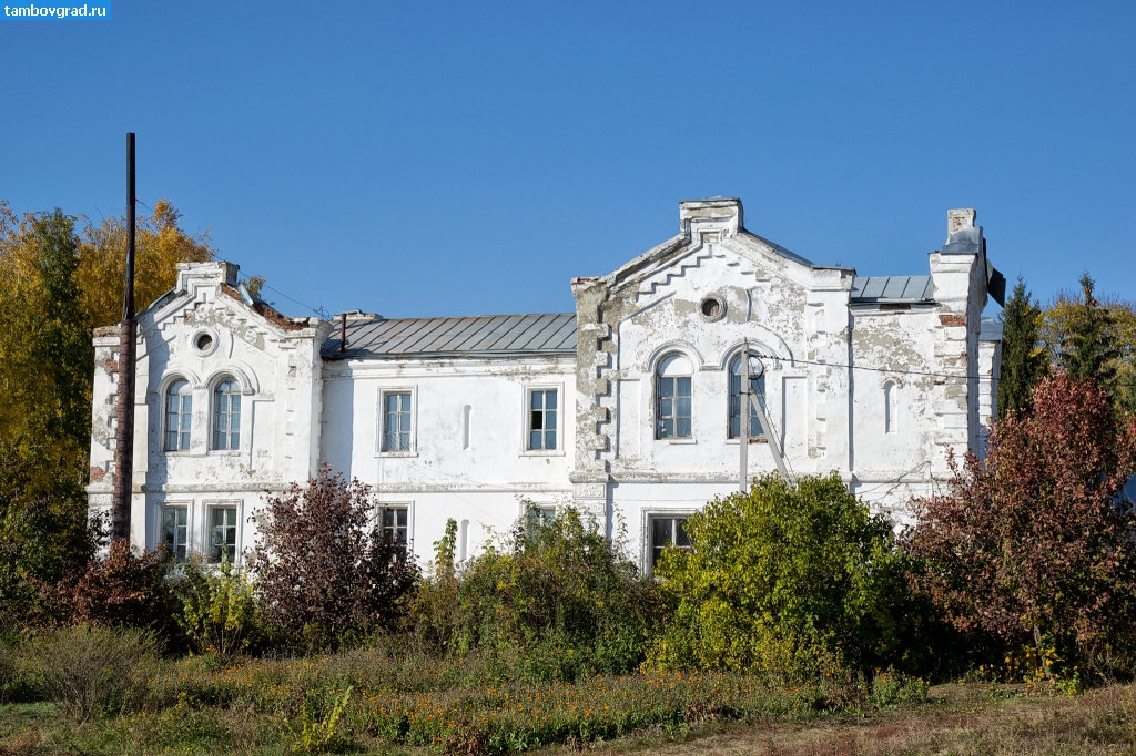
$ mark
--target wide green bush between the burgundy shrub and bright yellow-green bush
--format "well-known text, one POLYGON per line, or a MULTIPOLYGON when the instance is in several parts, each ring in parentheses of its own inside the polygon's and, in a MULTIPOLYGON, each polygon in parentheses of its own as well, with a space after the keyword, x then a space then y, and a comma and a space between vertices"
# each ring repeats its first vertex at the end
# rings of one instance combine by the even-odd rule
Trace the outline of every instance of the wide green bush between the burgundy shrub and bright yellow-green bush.
POLYGON ((662 608, 657 583, 570 507, 549 522, 523 516, 458 582, 452 646, 515 652, 543 680, 634 670, 662 608))

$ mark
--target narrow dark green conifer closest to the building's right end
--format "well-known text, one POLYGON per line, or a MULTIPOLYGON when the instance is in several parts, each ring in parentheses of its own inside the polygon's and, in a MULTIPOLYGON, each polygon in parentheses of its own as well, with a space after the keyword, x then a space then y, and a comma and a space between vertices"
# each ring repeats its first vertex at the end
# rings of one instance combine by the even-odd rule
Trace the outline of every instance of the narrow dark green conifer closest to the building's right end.
POLYGON ((1002 375, 997 384, 999 417, 1022 410, 1029 394, 1049 369, 1049 355, 1039 344, 1042 310, 1026 289, 1021 276, 1002 310, 1002 375))

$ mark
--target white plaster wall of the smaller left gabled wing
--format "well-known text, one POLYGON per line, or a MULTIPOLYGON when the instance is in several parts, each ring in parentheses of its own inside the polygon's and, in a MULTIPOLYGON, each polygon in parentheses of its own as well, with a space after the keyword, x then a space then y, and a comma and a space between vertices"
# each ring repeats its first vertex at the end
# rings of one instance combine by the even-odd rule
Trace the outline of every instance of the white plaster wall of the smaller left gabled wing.
MULTIPOLYGON (((239 553, 254 540, 247 520, 265 489, 279 490, 314 471, 312 435, 319 417, 318 344, 326 327, 266 320, 245 306, 233 285, 236 266, 225 262, 178 266, 178 285, 139 316, 135 389, 135 451, 131 540, 137 547, 160 543, 160 510, 187 507, 189 546, 208 544, 208 509, 236 506, 239 553), (198 336, 214 348, 201 353, 198 336), (236 451, 211 448, 212 390, 225 377, 241 387, 241 435, 236 451), (187 451, 166 451, 166 389, 184 378, 192 388, 192 430, 187 451)), ((95 432, 92 468, 112 460, 112 432, 102 415, 114 406, 110 378, 117 335, 95 338, 95 432), (112 342, 112 343, 111 343, 112 342), (110 362, 108 362, 110 361, 110 362)), ((117 366, 115 366, 117 368, 117 366)), ((109 510, 114 474, 92 470, 87 488, 92 510, 109 510)))

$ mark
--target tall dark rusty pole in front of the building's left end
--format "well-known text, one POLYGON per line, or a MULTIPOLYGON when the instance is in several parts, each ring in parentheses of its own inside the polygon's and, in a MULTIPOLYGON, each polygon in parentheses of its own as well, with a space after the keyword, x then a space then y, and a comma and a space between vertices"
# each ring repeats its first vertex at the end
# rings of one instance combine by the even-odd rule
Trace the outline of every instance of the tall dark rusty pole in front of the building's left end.
POLYGON ((115 427, 115 498, 111 540, 131 537, 131 493, 134 472, 134 361, 137 324, 134 320, 134 134, 126 135, 126 288, 118 327, 118 423, 115 427))

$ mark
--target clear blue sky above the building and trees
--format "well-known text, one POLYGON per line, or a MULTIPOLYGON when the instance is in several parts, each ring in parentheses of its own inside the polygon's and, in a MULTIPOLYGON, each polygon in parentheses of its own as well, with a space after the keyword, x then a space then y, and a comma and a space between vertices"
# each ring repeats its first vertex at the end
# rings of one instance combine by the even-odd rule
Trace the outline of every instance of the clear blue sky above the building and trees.
POLYGON ((1131 2, 116 0, 0 19, 0 198, 120 212, 134 131, 143 201, 333 312, 569 311, 713 195, 861 275, 974 207, 1011 282, 1136 300, 1133 40, 1131 2))

